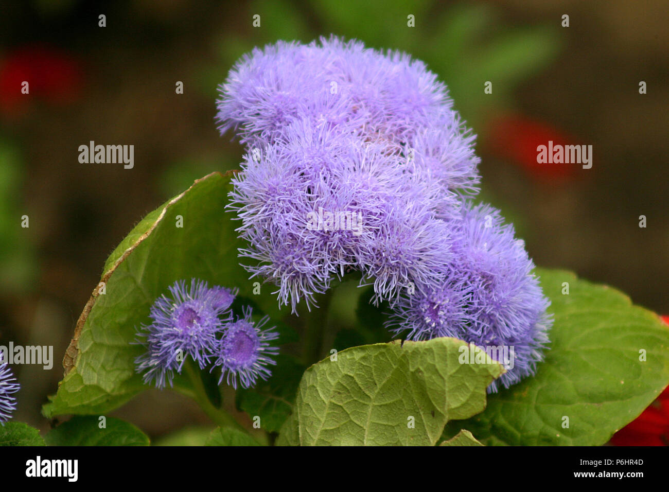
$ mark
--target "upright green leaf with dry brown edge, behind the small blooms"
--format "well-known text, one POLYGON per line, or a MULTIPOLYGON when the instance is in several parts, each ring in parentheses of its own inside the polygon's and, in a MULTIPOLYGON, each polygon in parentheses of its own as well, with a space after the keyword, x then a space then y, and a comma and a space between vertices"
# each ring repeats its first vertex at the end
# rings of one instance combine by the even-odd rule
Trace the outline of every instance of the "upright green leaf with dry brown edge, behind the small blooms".
POLYGON ((64 359, 66 376, 45 404, 45 416, 104 414, 147 388, 134 370, 142 347, 131 342, 137 327, 150 322, 155 299, 176 280, 238 287, 265 313, 277 315, 271 289, 253 295, 253 282, 237 259, 237 222, 225 211, 230 176, 212 173, 195 181, 147 215, 112 252, 101 278, 105 293, 96 287, 77 322, 64 359))

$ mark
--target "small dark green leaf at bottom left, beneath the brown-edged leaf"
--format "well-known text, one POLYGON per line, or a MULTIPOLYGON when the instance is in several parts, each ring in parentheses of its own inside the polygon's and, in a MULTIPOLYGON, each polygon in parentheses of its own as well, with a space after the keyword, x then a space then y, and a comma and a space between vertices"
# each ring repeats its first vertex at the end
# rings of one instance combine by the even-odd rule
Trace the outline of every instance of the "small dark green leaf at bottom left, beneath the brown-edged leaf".
POLYGON ((149 446, 149 437, 134 425, 105 417, 74 416, 44 436, 49 446, 149 446))

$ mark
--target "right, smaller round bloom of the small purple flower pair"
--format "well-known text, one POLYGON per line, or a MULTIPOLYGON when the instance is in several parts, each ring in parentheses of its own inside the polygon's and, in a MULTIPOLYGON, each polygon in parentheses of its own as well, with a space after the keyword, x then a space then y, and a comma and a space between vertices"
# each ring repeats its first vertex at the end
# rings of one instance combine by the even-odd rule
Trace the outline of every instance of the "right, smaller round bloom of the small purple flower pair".
POLYGON ((252 309, 244 310, 244 317, 225 325, 223 337, 217 345, 217 360, 214 365, 221 366, 219 384, 227 379, 227 384, 237 389, 237 378, 242 388, 255 386, 258 378, 267 380, 272 372, 267 367, 275 365, 271 359, 278 352, 278 347, 270 346, 270 341, 278 338, 274 328, 263 330, 269 317, 257 323, 251 321, 252 309), (227 376, 227 378, 226 378, 227 376))

